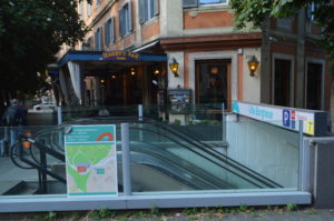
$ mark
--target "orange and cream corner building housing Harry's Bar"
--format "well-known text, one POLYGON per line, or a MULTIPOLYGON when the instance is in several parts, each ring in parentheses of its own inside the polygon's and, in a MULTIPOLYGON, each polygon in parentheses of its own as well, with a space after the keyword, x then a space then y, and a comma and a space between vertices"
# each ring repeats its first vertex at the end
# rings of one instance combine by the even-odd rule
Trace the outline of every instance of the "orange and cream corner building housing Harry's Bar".
POLYGON ((78 12, 90 31, 58 54, 68 104, 168 103, 179 90, 190 103, 227 110, 233 100, 330 110, 330 63, 312 6, 237 31, 228 0, 94 0, 78 12), (249 74, 253 58, 259 66, 249 74))

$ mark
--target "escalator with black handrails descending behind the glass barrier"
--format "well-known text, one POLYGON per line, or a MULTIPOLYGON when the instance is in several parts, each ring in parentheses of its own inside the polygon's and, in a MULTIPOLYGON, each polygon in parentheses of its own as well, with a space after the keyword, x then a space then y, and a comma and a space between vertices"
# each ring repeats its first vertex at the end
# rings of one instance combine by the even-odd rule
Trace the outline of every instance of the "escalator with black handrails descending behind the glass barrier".
MULTIPOLYGON (((119 118, 118 122, 121 122, 119 118)), ((181 127, 168 127, 151 119, 140 122, 132 119, 130 122, 134 192, 283 188, 229 159, 216 147, 204 142, 196 133, 189 133, 181 127)), ((100 124, 101 121, 90 119, 73 124, 79 123, 100 124)), ((115 121, 105 119, 104 123, 111 124, 115 121)), ((28 154, 26 150, 26 155, 12 158, 18 167, 38 171, 37 194, 66 193, 63 131, 69 125, 39 130, 33 138, 23 138, 31 143, 28 154), (56 192, 51 185, 58 187, 56 192)), ((120 138, 119 128, 117 132, 117 138, 120 138)), ((117 144, 117 149, 121 192, 120 144, 117 144)))

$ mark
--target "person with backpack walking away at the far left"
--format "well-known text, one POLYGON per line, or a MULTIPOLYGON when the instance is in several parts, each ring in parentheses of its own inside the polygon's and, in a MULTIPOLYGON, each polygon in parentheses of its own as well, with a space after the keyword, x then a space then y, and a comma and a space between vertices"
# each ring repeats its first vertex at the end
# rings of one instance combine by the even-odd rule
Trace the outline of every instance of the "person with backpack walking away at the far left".
MULTIPOLYGON (((27 124, 26 111, 19 104, 18 99, 12 99, 1 119, 2 125, 10 128, 10 147, 16 143, 19 133, 22 132, 22 127, 27 124)), ((20 148, 21 144, 17 145, 10 153, 18 155, 20 148)))

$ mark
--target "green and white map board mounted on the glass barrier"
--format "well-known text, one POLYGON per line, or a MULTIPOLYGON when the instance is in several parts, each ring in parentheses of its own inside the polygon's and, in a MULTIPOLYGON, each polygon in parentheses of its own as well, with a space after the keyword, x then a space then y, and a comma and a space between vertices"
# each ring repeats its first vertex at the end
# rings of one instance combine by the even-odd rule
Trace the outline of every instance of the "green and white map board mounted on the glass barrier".
POLYGON ((65 135, 68 195, 117 195, 115 125, 72 125, 65 135))

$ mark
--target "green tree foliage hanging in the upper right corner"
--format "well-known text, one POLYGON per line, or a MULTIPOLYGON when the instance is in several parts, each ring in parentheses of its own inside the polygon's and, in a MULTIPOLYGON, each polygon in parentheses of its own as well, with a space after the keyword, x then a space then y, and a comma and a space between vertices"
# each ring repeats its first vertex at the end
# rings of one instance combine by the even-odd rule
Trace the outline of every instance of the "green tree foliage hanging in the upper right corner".
POLYGON ((326 48, 330 58, 334 59, 334 1, 332 0, 230 0, 230 8, 235 11, 236 28, 245 28, 252 23, 253 28, 264 28, 266 18, 285 18, 296 14, 299 9, 316 2, 314 21, 322 28, 320 44, 326 48))

